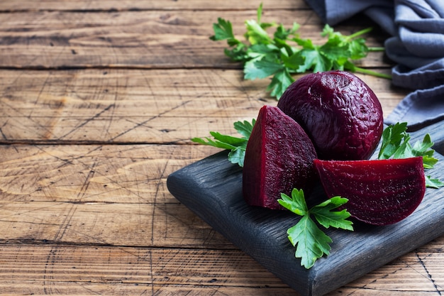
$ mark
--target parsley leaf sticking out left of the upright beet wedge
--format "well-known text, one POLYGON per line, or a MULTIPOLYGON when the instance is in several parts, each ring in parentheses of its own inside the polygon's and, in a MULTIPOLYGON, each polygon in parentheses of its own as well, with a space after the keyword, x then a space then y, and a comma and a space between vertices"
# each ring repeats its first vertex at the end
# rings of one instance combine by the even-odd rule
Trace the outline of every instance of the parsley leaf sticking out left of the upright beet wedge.
POLYGON ((236 121, 233 126, 240 135, 243 137, 238 138, 234 136, 223 135, 216 131, 210 131, 211 138, 192 138, 192 141, 199 144, 209 145, 216 148, 231 150, 228 153, 228 160, 231 163, 238 164, 243 167, 243 161, 245 159, 245 149, 247 148, 248 138, 256 120, 252 119, 251 122, 248 121, 236 121))

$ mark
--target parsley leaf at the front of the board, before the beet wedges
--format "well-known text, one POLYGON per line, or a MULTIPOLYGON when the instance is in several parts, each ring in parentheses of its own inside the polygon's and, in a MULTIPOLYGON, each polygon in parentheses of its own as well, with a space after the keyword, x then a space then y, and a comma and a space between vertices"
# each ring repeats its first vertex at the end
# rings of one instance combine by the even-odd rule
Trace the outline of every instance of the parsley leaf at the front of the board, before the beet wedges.
POLYGON ((302 216, 298 223, 287 230, 289 241, 296 247, 294 256, 301 258, 301 265, 309 269, 313 267, 318 258, 328 255, 332 240, 327 236, 311 218, 314 216, 319 224, 328 228, 330 226, 353 231, 353 222, 347 220, 350 213, 343 209, 340 212, 332 210, 348 202, 342 197, 332 197, 325 202, 308 209, 303 190, 292 190, 292 197, 282 193, 277 200, 282 207, 294 214, 302 216))

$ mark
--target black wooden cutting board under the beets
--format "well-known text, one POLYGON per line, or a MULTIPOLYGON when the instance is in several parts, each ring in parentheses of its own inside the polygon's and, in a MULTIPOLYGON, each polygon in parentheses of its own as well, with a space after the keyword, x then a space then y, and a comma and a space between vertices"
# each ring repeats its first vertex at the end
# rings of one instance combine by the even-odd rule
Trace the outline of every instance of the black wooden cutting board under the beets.
MULTIPOLYGON (((431 134, 440 161, 426 175, 440 180, 444 179, 443 129, 440 122, 411 133, 411 143, 431 134)), ((300 295, 324 295, 444 234, 444 188, 427 188, 416 211, 396 224, 355 224, 353 232, 327 229, 333 239, 330 255, 306 270, 287 239, 287 229, 298 216, 248 206, 242 196, 242 170, 228 162, 225 151, 173 172, 167 186, 182 204, 300 295)), ((323 198, 320 186, 314 194, 323 198)))

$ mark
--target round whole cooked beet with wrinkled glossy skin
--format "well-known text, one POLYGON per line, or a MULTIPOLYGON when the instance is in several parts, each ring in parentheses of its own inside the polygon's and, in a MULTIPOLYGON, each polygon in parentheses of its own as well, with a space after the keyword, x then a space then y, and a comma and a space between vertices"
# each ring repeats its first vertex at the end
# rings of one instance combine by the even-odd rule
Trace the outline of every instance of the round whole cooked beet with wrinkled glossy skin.
POLYGON ((277 106, 304 128, 321 159, 370 158, 382 136, 379 100, 349 72, 301 77, 282 94, 277 106))

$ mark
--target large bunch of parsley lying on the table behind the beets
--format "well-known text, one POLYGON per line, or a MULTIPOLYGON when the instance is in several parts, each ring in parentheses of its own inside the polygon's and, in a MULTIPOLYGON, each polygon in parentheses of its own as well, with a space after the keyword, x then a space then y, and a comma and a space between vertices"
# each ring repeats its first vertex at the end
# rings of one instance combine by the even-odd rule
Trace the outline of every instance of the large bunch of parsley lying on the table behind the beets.
POLYGON ((210 39, 227 41, 229 48, 225 48, 224 52, 231 60, 243 63, 245 80, 271 76, 267 92, 272 97, 279 99, 294 82, 292 75, 307 71, 348 70, 391 78, 390 75, 357 67, 353 63, 353 60, 366 57, 370 51, 384 50, 367 47, 365 39, 360 37, 372 28, 342 35, 326 25, 321 33, 321 36, 327 38, 326 43, 315 45, 311 39, 300 38, 297 33, 300 27, 298 23, 293 23, 292 28, 284 28, 282 23, 265 23, 261 18, 262 4, 257 9, 257 20, 245 21, 245 42, 235 37, 230 21, 218 18, 218 22, 213 23, 214 35, 210 39), (276 29, 272 36, 267 33, 268 28, 276 29))

